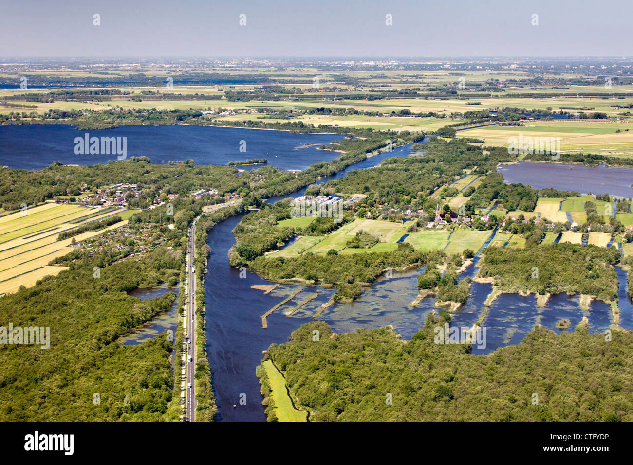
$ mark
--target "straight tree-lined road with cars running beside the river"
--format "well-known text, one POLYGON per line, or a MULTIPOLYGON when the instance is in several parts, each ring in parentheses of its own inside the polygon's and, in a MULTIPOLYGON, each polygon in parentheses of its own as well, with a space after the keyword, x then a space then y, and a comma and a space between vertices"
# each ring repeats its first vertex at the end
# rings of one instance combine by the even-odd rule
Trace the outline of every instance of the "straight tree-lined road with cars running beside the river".
POLYGON ((196 421, 196 267, 194 257, 196 256, 196 221, 189 229, 189 264, 187 269, 187 280, 189 282, 189 311, 187 311, 187 409, 185 411, 185 421, 196 421), (191 385, 191 388, 189 387, 191 385))

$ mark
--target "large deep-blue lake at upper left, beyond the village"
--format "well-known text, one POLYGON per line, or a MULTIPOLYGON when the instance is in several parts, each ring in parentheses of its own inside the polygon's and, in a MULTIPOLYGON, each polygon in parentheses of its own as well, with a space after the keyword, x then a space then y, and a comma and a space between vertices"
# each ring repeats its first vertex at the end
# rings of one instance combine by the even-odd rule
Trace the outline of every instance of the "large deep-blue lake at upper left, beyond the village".
MULTIPOLYGON (((90 137, 125 137, 127 158, 148 156, 152 163, 189 158, 197 166, 225 165, 229 161, 266 158, 270 166, 280 170, 304 170, 318 161, 337 158, 337 152, 317 147, 344 137, 187 125, 120 126, 90 131, 79 131, 75 125, 4 125, 0 126, 0 164, 18 170, 41 170, 53 161, 102 164, 117 159, 116 154, 76 155, 75 138, 84 137, 86 132, 90 137), (240 147, 246 147, 246 151, 240 151, 240 147)), ((238 168, 255 167, 258 166, 238 168)))

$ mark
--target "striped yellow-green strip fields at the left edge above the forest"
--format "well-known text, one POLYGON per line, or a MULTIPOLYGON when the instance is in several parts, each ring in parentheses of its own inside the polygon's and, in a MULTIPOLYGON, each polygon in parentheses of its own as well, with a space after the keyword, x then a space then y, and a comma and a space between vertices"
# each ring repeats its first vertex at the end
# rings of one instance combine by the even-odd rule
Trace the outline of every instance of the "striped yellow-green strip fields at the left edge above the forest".
POLYGON ((127 220, 63 240, 57 239, 60 232, 123 211, 123 208, 106 211, 104 207, 47 203, 0 217, 0 295, 15 292, 21 285, 30 287, 46 275, 57 275, 65 267, 48 266, 48 263, 72 251, 70 244, 73 239, 80 242, 101 234, 105 229, 123 226, 127 220), (104 213, 82 218, 101 211, 104 213))

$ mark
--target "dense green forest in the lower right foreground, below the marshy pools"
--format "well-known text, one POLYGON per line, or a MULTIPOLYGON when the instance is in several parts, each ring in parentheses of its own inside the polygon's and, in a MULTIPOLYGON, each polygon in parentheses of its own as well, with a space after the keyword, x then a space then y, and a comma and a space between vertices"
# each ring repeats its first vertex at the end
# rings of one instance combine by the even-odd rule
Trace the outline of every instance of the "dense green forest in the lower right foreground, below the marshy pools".
POLYGON ((408 341, 389 328, 334 335, 312 321, 265 359, 310 421, 633 420, 633 333, 606 342, 586 323, 560 335, 537 326, 521 344, 475 356, 434 343, 450 319, 441 314, 408 341))

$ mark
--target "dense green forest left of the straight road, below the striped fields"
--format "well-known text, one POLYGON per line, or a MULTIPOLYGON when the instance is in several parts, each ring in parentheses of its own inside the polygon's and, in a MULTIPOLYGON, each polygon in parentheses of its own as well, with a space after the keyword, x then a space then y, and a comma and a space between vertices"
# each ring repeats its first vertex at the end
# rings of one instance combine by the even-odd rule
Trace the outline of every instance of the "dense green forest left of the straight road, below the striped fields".
POLYGON ((160 249, 143 261, 71 264, 58 276, 0 299, 3 325, 48 326, 49 349, 0 345, 0 412, 11 421, 163 419, 172 399, 165 335, 141 345, 116 340, 173 305, 175 294, 141 301, 127 291, 179 275, 182 253, 160 249), (93 395, 100 395, 94 404, 93 395))

